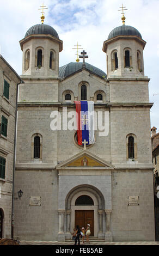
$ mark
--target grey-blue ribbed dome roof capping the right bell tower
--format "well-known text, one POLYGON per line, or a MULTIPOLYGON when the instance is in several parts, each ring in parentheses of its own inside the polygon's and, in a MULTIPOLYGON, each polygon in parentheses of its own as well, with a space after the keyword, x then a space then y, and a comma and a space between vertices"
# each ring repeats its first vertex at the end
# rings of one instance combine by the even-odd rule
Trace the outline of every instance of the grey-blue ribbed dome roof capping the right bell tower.
POLYGON ((138 30, 131 26, 122 25, 117 28, 114 28, 111 33, 108 35, 108 39, 114 38, 117 35, 137 35, 142 39, 142 35, 138 32, 138 30))

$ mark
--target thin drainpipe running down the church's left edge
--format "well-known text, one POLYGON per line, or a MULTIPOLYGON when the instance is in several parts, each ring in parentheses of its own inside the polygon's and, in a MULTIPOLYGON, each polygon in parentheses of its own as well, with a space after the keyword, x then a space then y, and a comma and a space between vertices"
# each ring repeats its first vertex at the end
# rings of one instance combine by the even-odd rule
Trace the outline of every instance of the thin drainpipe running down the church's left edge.
POLYGON ((21 81, 16 86, 16 108, 15 108, 15 130, 14 130, 14 159, 13 159, 13 190, 12 190, 12 207, 11 207, 11 238, 14 239, 14 174, 15 174, 15 161, 16 161, 16 129, 17 129, 17 100, 19 84, 24 83, 21 81))

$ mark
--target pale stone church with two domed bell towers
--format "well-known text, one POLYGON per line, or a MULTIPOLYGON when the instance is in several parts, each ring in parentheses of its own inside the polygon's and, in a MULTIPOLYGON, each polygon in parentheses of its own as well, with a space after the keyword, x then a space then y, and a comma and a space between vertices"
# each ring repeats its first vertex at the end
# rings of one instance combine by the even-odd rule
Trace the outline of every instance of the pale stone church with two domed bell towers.
POLYGON ((95 239, 155 240, 145 44, 136 28, 114 28, 99 49, 106 75, 84 60, 59 68, 58 33, 45 24, 28 29, 20 41, 15 191, 23 196, 15 201, 15 239, 66 241, 75 225, 89 223, 95 239), (86 149, 63 121, 77 100, 94 101, 106 130, 97 125, 86 149), (60 129, 51 127, 53 113, 60 129))

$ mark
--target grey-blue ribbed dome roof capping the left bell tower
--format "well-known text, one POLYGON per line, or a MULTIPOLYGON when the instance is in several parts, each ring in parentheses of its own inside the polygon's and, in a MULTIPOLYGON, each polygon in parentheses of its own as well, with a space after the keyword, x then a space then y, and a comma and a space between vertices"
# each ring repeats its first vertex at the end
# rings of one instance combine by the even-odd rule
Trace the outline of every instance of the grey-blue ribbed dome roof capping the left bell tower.
POLYGON ((50 35, 53 35, 55 38, 59 39, 59 36, 56 30, 54 30, 54 28, 46 24, 37 24, 30 27, 27 33, 25 34, 25 38, 28 35, 36 35, 36 34, 50 34, 50 35))

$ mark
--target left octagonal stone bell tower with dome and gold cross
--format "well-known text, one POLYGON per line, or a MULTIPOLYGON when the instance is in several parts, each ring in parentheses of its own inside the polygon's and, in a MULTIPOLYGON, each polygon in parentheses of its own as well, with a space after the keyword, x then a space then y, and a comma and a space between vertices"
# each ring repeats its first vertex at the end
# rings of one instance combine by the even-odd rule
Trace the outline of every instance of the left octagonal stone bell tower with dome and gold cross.
POLYGON ((30 27, 20 41, 23 77, 58 78, 59 52, 63 50, 63 41, 54 28, 44 24, 44 7, 42 5, 41 24, 30 27))

